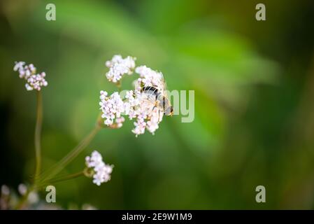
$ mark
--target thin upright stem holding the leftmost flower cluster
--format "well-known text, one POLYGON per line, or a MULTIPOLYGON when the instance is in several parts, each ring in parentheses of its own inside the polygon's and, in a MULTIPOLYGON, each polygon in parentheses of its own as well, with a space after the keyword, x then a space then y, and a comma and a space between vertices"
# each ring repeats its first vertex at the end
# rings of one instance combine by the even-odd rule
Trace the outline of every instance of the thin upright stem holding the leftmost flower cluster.
POLYGON ((36 127, 35 127, 35 155, 36 155, 36 167, 35 167, 35 182, 41 173, 41 127, 43 124, 43 99, 41 91, 36 92, 37 98, 37 117, 36 117, 36 127))

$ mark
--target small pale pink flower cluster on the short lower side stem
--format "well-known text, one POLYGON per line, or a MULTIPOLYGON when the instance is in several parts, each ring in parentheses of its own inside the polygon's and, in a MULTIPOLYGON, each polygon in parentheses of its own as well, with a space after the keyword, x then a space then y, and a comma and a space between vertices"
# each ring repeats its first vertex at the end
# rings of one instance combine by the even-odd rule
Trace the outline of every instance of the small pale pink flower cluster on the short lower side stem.
POLYGON ((86 166, 94 170, 93 183, 100 186, 101 183, 110 181, 110 174, 113 172, 113 165, 106 165, 101 154, 92 152, 91 156, 85 158, 86 166))

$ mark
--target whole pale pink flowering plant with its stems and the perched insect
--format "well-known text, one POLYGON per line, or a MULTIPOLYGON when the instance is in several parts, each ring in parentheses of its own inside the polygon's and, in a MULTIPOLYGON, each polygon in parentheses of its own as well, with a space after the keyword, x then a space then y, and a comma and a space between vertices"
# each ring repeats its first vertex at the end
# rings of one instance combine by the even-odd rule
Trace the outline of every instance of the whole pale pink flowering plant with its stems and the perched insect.
POLYGON ((134 120, 132 132, 136 134, 136 137, 139 134, 144 134, 145 130, 155 134, 163 116, 171 116, 173 108, 166 94, 166 83, 162 73, 145 65, 136 67, 135 61, 136 57, 127 56, 123 58, 121 55, 114 55, 111 60, 106 62, 109 69, 106 78, 115 83, 119 90, 124 75, 131 76, 137 73, 139 77, 134 81, 134 89, 127 91, 124 97, 121 97, 119 92, 108 94, 106 91, 101 91, 99 102, 101 114, 97 118, 94 129, 62 160, 59 160, 54 166, 45 171, 41 170, 41 127, 43 119, 41 90, 43 90, 43 87, 48 86, 48 82, 45 80, 45 72, 37 73, 34 64, 15 62, 13 70, 17 71, 20 78, 26 81, 26 89, 29 91, 36 90, 37 107, 34 134, 36 165, 34 177, 30 183, 20 184, 18 188, 19 200, 11 201, 13 195, 11 195, 10 188, 7 186, 1 187, 0 208, 23 209, 27 206, 29 208, 39 201, 38 189, 78 176, 92 177, 92 182, 97 186, 110 181, 113 165, 106 164, 98 151, 93 151, 92 155, 85 158, 85 168, 80 172, 66 176, 58 176, 57 174, 90 144, 101 128, 118 129, 122 127, 125 120, 124 116, 127 116, 129 120, 134 120))

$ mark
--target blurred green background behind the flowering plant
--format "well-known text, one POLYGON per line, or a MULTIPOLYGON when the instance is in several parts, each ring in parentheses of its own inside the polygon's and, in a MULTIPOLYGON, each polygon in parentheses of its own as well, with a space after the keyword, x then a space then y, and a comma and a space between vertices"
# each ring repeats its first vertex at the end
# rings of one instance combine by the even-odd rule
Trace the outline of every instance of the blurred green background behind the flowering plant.
MULTIPOLYGON (((136 56, 170 90, 195 90, 195 119, 165 118, 138 138, 131 121, 101 130, 64 174, 98 150, 110 182, 58 183, 64 209, 314 209, 313 1, 0 1, 0 185, 34 172, 36 97, 15 61, 47 73, 43 166, 94 127, 104 63, 136 56), (257 3, 266 21, 255 20, 257 3), (55 3, 57 20, 45 20, 55 3), (255 202, 256 186, 266 203, 255 202)), ((123 88, 134 77, 125 78, 123 88)), ((45 194, 41 193, 41 198, 45 194)))

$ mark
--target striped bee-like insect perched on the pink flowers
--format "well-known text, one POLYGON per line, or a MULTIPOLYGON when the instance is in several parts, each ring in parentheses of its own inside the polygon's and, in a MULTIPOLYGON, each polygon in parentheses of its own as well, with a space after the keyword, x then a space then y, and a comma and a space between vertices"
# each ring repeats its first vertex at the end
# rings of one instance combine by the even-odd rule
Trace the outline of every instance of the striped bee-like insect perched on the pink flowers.
POLYGON ((145 86, 142 87, 141 92, 147 94, 148 100, 154 104, 157 109, 162 111, 166 116, 173 115, 173 106, 171 105, 169 98, 166 94, 166 83, 162 78, 162 87, 157 86, 145 86))

